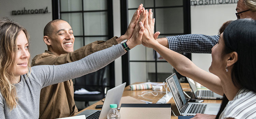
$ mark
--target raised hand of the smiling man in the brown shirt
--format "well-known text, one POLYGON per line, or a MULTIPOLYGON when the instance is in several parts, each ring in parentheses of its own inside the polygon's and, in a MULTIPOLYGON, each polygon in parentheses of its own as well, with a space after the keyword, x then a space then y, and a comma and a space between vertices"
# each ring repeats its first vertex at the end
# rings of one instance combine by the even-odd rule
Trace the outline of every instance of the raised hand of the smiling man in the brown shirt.
POLYGON ((118 38, 117 42, 121 42, 125 39, 130 39, 132 36, 132 33, 134 31, 134 28, 138 22, 139 16, 140 16, 140 11, 142 10, 143 4, 140 4, 137 11, 133 14, 131 22, 127 28, 127 31, 125 32, 124 35, 120 36, 120 38, 118 38))

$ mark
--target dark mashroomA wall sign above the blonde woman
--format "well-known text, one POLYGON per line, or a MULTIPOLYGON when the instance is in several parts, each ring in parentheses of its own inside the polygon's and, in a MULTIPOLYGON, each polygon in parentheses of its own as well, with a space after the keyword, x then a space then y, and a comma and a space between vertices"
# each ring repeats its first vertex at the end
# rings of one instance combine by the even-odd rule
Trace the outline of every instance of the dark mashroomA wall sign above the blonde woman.
POLYGON ((41 9, 29 9, 29 10, 26 10, 26 8, 24 7, 23 10, 13 10, 12 11, 12 15, 46 14, 46 13, 50 13, 50 12, 48 12, 47 7, 45 9, 41 8, 41 9))

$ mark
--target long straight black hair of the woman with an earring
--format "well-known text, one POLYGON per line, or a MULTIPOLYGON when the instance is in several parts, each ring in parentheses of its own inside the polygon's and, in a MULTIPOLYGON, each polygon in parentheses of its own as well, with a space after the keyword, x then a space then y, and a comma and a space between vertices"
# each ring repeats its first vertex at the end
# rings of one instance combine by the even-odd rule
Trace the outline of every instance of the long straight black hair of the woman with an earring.
MULTIPOLYGON (((256 92, 256 21, 239 19, 232 21, 223 32, 225 48, 223 53, 237 52, 238 61, 231 70, 232 82, 236 87, 243 87, 256 92)), ((224 95, 219 118, 228 103, 224 95)))

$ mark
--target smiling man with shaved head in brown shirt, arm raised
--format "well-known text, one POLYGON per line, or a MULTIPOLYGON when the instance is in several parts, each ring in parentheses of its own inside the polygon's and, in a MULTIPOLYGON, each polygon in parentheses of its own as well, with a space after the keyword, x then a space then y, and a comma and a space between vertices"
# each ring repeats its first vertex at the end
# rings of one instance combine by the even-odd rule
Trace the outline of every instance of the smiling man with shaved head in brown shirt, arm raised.
MULTIPOLYGON (((134 13, 124 35, 119 38, 113 37, 107 41, 95 41, 75 51, 73 49, 75 37, 69 23, 61 19, 50 21, 44 28, 43 37, 48 50, 35 56, 32 60, 32 66, 74 62, 94 52, 120 44, 125 39, 130 39, 141 10, 142 4, 134 13)), ((40 119, 70 117, 77 113, 72 80, 42 88, 39 109, 40 119)))

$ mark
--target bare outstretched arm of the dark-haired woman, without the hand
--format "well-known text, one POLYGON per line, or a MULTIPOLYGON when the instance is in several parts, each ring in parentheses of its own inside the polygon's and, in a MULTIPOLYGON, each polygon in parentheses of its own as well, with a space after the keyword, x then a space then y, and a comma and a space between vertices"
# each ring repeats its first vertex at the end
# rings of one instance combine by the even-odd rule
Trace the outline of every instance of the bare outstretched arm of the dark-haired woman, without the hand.
POLYGON ((219 95, 223 95, 223 89, 219 78, 197 67, 184 55, 174 52, 161 44, 152 45, 165 60, 170 63, 181 75, 191 78, 219 95))

